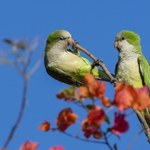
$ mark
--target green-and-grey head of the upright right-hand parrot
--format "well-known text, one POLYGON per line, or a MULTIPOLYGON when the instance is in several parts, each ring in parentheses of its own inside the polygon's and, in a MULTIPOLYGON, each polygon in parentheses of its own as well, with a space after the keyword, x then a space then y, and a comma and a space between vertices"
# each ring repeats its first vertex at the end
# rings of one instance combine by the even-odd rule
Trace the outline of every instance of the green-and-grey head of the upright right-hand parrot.
POLYGON ((141 53, 140 37, 132 31, 120 31, 115 38, 114 47, 117 48, 119 52, 132 51, 141 53))

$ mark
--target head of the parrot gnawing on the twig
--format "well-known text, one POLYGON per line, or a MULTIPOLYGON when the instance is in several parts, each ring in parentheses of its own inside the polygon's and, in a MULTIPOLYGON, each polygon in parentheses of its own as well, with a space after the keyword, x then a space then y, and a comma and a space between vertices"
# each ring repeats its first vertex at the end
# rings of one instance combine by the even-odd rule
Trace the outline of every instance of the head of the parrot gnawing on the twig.
POLYGON ((71 37, 71 34, 66 30, 57 30, 51 33, 48 36, 47 44, 48 45, 55 45, 56 43, 59 43, 60 45, 63 45, 64 47, 67 47, 68 45, 73 45, 74 40, 71 37))

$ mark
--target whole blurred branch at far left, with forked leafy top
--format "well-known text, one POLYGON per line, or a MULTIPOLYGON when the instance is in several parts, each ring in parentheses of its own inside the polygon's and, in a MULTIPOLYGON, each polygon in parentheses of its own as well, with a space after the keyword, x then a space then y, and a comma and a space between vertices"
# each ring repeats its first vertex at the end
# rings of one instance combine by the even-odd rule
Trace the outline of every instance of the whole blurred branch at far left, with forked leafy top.
POLYGON ((14 42, 12 40, 7 39, 5 40, 5 42, 12 47, 11 55, 14 55, 15 58, 10 59, 8 57, 6 58, 7 61, 3 61, 3 58, 1 57, 0 63, 13 66, 19 72, 19 74, 23 77, 23 92, 22 92, 20 111, 18 113, 16 121, 14 122, 14 125, 12 126, 10 130, 10 133, 8 134, 8 137, 3 145, 2 150, 7 149, 12 138, 14 137, 16 130, 18 129, 21 123, 21 120, 25 112, 26 103, 27 103, 27 92, 28 92, 28 84, 29 84, 30 76, 33 73, 35 73, 35 71, 38 69, 38 67, 41 64, 41 57, 40 57, 35 63, 35 66, 29 71, 30 72, 29 74, 28 69, 30 67, 30 61, 32 58, 32 54, 34 52, 32 48, 35 48, 35 43, 34 43, 34 46, 32 47, 32 44, 28 45, 24 41, 14 42))

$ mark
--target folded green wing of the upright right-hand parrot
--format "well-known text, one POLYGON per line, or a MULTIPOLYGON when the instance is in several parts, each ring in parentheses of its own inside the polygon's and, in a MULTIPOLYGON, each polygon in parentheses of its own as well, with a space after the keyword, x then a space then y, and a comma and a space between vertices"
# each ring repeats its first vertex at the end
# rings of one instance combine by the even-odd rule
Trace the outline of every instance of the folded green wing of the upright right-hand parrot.
POLYGON ((150 66, 147 59, 144 56, 138 58, 139 68, 143 84, 147 85, 150 89, 150 66))

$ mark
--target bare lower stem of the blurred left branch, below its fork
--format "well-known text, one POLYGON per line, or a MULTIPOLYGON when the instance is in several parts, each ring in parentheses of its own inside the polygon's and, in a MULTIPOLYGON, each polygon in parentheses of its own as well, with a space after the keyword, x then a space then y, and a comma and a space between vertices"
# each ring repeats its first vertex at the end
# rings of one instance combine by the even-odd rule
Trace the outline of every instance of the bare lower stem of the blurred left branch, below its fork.
POLYGON ((22 103, 21 103, 21 107, 20 107, 20 112, 18 114, 16 122, 14 123, 14 125, 13 125, 7 139, 6 139, 6 142, 3 145, 2 150, 6 150, 6 148, 8 147, 8 145, 10 143, 10 141, 14 137, 14 134, 15 134, 18 126, 20 125, 21 119, 22 119, 24 111, 25 111, 25 106, 26 106, 27 89, 28 89, 28 79, 24 78, 24 86, 23 86, 22 103))

